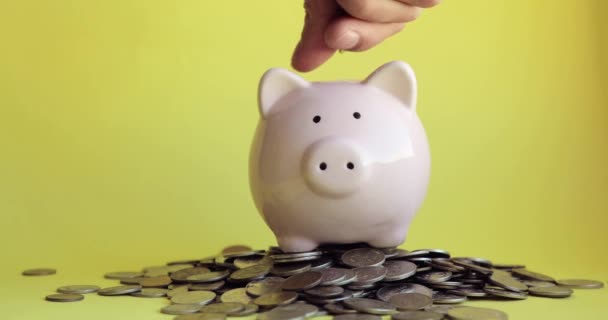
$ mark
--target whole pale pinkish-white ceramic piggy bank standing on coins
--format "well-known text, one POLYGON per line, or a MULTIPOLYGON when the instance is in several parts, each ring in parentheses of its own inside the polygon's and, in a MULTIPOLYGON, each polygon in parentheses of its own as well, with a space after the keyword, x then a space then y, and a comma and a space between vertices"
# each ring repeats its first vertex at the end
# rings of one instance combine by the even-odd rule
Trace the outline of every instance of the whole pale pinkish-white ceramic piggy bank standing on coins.
POLYGON ((430 175, 416 93, 414 72, 401 61, 362 82, 264 74, 249 181, 283 251, 405 241, 430 175))

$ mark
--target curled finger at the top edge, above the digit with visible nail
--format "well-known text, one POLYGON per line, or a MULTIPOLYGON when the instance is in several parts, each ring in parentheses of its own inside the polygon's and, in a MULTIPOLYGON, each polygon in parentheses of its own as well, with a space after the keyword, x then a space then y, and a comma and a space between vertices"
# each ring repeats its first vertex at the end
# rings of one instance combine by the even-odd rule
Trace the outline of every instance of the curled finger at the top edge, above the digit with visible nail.
POLYGON ((369 22, 410 22, 420 9, 395 0, 337 0, 349 15, 369 22))

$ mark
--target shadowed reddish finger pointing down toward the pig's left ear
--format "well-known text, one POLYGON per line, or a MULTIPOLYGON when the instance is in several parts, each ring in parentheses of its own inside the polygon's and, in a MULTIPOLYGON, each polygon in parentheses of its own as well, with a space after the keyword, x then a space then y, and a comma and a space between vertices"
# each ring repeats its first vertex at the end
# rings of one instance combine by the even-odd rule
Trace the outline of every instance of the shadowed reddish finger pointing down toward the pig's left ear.
POLYGON ((304 29, 291 60, 293 68, 301 72, 320 66, 336 52, 327 46, 323 35, 336 15, 338 5, 333 0, 306 0, 304 8, 304 29))

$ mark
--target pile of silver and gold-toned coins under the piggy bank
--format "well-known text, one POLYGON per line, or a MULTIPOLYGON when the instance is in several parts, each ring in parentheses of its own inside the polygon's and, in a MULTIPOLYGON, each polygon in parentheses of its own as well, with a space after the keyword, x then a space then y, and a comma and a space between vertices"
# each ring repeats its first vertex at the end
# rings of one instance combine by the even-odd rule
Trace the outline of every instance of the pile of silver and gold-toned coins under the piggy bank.
MULTIPOLYGON (((28 272, 29 274, 40 274, 28 272)), ((49 274, 48 270, 42 273, 49 274)), ((26 272, 24 272, 26 275, 26 272)), ((594 280, 555 280, 524 265, 451 257, 441 249, 408 251, 365 244, 326 245, 284 253, 277 247, 231 246, 217 256, 169 262, 135 272, 111 272, 119 286, 65 286, 49 301, 83 294, 167 298, 160 311, 176 320, 213 320, 257 313, 260 320, 331 314, 337 320, 504 320, 499 310, 457 306, 469 299, 565 298, 572 289, 601 288, 594 280)))

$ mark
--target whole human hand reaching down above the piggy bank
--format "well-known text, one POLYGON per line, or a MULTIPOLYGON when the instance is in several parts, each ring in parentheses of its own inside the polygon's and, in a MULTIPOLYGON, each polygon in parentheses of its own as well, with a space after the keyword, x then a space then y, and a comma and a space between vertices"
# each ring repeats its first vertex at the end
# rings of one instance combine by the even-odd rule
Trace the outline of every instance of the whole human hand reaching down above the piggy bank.
POLYGON ((292 57, 298 71, 311 71, 337 50, 365 51, 398 33, 422 8, 441 0, 305 0, 302 38, 292 57))

